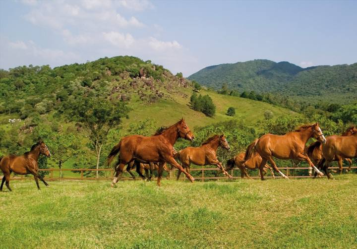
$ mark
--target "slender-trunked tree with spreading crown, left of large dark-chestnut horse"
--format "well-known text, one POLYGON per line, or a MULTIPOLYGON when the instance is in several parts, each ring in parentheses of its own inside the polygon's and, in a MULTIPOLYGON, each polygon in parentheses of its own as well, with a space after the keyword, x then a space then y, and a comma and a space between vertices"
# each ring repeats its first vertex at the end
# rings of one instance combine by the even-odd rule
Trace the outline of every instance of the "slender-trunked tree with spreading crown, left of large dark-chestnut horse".
MULTIPOLYGON (((67 117, 77 121, 89 131, 89 139, 92 142, 97 156, 97 170, 103 144, 105 144, 108 132, 118 127, 122 118, 128 118, 129 108, 124 102, 113 101, 101 97, 86 97, 74 100, 72 109, 67 117)), ((98 171, 96 174, 98 178, 98 171)))

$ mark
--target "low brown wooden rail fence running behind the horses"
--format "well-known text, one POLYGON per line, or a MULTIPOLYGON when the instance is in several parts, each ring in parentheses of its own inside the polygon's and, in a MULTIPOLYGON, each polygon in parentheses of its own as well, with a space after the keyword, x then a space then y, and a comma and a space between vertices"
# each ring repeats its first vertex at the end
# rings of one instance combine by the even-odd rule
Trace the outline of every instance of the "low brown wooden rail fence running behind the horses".
MULTIPOLYGON (((348 167, 343 167, 343 169, 347 169, 348 167)), ((295 170, 308 170, 307 167, 281 167, 278 168, 279 170, 284 170, 286 171, 286 175, 289 178, 311 178, 310 176, 295 176, 294 174, 291 174, 291 170, 295 171, 295 170)), ((339 169, 339 167, 330 167, 329 169, 339 169)), ((357 169, 357 167, 351 167, 351 169, 357 169)), ((205 180, 219 180, 219 179, 227 179, 226 177, 205 177, 204 172, 205 171, 220 171, 219 168, 191 168, 191 171, 201 171, 201 177, 196 176, 195 179, 196 180, 201 180, 202 182, 204 182, 205 180)), ((113 175, 114 175, 114 170, 113 169, 39 169, 39 171, 49 171, 50 174, 49 176, 45 177, 46 181, 55 181, 55 180, 112 180, 113 179, 113 175), (54 177, 54 171, 75 171, 80 173, 79 177, 54 177), (110 172, 110 175, 108 177, 99 177, 99 178, 95 178, 95 177, 85 177, 84 176, 84 172, 86 171, 107 171, 110 172)), ((175 174, 175 172, 177 172, 177 169, 174 169, 172 171, 170 171, 170 178, 173 178, 175 174)), ((233 169, 231 170, 231 175, 233 175, 234 171, 239 171, 239 169, 233 169)), ((233 179, 238 179, 239 177, 233 177, 233 179)), ((259 176, 252 176, 251 178, 260 178, 259 176)), ((267 176, 266 178, 272 178, 271 176, 267 176)), ((281 176, 275 176, 275 178, 281 178, 281 176)), ((0 179, 2 179, 2 176, 0 176, 0 179)), ((25 180, 28 179, 26 177, 22 176, 14 176, 11 177, 11 180, 25 180)), ((141 178, 136 178, 137 180, 141 180, 141 178)), ((186 179, 185 176, 181 176, 181 179, 186 179)), ((131 177, 122 177, 121 180, 133 180, 131 177)))

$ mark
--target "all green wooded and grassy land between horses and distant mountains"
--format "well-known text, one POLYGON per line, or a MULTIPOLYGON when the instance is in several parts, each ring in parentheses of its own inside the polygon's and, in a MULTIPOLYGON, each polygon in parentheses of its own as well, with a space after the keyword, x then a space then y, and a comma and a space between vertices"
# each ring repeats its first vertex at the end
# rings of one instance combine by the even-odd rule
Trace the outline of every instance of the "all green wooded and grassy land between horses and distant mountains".
MULTIPOLYGON (((285 67, 299 70, 292 64, 285 67)), ((105 156, 123 135, 151 135, 163 123, 173 124, 183 116, 190 119, 197 139, 179 139, 175 148, 199 146, 207 137, 225 133, 232 148, 218 152, 225 163, 263 133, 281 134, 319 121, 330 135, 357 123, 353 107, 307 115, 276 107, 273 101, 257 102, 267 100, 263 94, 240 95, 227 86, 220 94, 202 89, 198 80, 129 56, 0 70, 0 156, 22 154, 41 137, 53 154, 50 159, 41 157, 43 168, 105 167, 105 156)))

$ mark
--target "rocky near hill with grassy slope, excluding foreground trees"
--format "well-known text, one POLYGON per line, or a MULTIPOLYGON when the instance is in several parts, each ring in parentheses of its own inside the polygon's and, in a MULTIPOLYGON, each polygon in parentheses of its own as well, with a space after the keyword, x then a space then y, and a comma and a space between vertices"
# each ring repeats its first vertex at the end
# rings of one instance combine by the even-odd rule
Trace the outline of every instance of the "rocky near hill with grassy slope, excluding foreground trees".
MULTIPOLYGON (((216 115, 210 118, 189 107, 192 90, 191 81, 181 75, 173 75, 150 61, 128 56, 55 68, 30 65, 0 70, 0 155, 24 153, 39 135, 55 136, 58 133, 66 135, 66 139, 68 135, 72 139, 74 136, 77 144, 74 147, 78 152, 62 166, 92 167, 95 160, 88 131, 68 120, 66 115, 73 108, 73 100, 87 96, 126 103, 131 109, 128 119, 122 119, 120 127, 110 134, 102 155, 106 155, 123 135, 143 130, 152 134, 157 127, 174 124, 182 117, 194 131, 198 127, 229 120, 239 120, 260 131, 257 121, 264 118, 267 110, 272 112, 273 119, 280 115, 297 115, 268 103, 201 90, 200 94, 208 94, 216 105, 216 115), (226 115, 229 107, 236 108, 235 117, 226 115), (9 124, 9 119, 21 121, 9 124), (149 122, 140 123, 146 120, 149 122), (136 124, 144 127, 129 131, 136 124)), ((101 165, 103 162, 102 156, 101 165)), ((57 164, 55 159, 48 159, 50 167, 57 164)))

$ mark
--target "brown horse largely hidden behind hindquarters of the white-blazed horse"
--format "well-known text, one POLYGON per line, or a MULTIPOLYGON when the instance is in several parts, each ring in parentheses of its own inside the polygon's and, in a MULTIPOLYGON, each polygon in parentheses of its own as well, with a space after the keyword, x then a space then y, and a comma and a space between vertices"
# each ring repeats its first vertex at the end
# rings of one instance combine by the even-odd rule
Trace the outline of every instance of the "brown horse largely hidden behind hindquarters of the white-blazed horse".
MULTIPOLYGON (((249 169, 249 170, 259 169, 262 159, 258 153, 254 153, 254 155, 250 159, 248 159, 245 163, 243 163, 244 156, 245 156, 245 152, 242 152, 242 153, 239 153, 234 158, 229 159, 226 164, 226 171, 233 170, 237 166, 238 169, 240 170, 240 177, 242 179, 244 178, 244 176, 246 176, 247 178, 253 180, 248 175, 246 169, 249 169)), ((263 168, 264 175, 266 174, 266 169, 269 169, 273 175, 273 178, 275 178, 272 168, 267 164, 265 164, 264 168, 263 168)))

